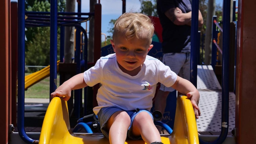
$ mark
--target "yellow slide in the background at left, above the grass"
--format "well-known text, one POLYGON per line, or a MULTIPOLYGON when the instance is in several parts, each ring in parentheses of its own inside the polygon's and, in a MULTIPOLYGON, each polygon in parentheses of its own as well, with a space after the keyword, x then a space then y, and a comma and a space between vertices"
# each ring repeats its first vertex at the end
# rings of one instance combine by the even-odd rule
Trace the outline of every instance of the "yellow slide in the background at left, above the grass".
MULTIPOLYGON (((59 61, 57 61, 57 72, 59 71, 59 61)), ((50 65, 37 71, 25 76, 25 90, 29 87, 33 86, 35 83, 45 79, 46 77, 50 76, 50 65)))

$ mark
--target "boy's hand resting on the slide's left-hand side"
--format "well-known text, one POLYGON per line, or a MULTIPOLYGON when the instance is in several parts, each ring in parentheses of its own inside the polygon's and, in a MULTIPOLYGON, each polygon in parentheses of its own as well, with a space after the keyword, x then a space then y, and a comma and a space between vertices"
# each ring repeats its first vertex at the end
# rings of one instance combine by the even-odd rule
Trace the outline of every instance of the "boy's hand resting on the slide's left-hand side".
POLYGON ((67 84, 62 84, 61 86, 59 86, 59 88, 57 88, 53 93, 51 93, 51 99, 53 97, 63 97, 63 99, 65 101, 68 101, 70 99, 71 96, 71 88, 69 85, 67 84))

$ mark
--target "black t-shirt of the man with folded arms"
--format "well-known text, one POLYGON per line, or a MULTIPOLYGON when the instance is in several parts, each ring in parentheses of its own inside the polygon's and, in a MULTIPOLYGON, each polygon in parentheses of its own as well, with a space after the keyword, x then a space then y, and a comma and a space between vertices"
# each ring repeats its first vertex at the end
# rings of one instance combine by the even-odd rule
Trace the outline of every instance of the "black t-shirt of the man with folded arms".
POLYGON ((163 28, 163 53, 190 52, 191 26, 175 25, 165 12, 171 8, 180 8, 183 13, 192 10, 191 0, 157 0, 157 13, 163 28))

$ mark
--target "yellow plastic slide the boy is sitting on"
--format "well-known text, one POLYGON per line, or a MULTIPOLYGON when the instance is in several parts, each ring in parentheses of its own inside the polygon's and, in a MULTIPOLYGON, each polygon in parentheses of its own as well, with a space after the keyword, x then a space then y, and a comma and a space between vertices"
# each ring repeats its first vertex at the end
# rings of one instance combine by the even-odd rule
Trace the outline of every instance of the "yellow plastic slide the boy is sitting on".
MULTIPOLYGON (((187 96, 178 96, 173 133, 162 135, 164 144, 199 144, 192 104, 187 96)), ((39 144, 109 144, 102 134, 72 133, 67 102, 54 97, 46 111, 39 144)), ((145 144, 143 140, 127 140, 125 144, 145 144)))

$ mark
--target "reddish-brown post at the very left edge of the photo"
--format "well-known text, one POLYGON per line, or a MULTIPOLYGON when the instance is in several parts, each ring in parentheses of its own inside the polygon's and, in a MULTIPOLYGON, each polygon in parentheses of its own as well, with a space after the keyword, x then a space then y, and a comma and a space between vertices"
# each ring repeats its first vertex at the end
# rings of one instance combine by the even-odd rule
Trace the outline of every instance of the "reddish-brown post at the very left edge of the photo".
POLYGON ((0 118, 0 140, 1 143, 8 143, 8 125, 9 125, 9 117, 8 117, 8 96, 9 96, 9 54, 8 50, 10 47, 10 0, 3 0, 0 2, 0 61, 2 64, 2 68, 0 71, 0 91, 2 93, 0 110, 1 110, 1 118, 0 118))

